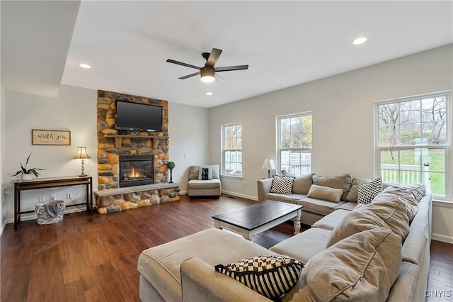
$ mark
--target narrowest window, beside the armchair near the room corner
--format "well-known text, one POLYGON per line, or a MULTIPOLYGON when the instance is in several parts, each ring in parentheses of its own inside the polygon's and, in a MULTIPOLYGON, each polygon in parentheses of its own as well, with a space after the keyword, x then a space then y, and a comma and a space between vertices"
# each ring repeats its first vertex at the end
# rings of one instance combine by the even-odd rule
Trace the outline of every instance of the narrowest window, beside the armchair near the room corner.
POLYGON ((242 124, 222 125, 223 169, 222 173, 242 176, 242 124))

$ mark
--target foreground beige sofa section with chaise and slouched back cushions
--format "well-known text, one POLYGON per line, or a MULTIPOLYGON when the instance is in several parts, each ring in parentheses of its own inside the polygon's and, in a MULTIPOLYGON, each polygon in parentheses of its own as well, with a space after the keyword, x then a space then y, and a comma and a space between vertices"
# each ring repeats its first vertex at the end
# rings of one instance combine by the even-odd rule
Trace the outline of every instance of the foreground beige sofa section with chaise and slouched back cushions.
POLYGON ((432 195, 424 186, 390 186, 372 203, 337 209, 269 250, 208 229, 144 250, 142 301, 270 301, 214 269, 258 255, 305 263, 282 301, 425 301, 432 195))

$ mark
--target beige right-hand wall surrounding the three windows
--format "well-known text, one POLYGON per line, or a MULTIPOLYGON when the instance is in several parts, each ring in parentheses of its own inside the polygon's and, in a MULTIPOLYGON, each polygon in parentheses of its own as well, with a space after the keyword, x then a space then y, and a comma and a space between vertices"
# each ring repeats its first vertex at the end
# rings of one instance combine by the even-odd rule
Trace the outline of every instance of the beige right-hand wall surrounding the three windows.
MULTIPOLYGON (((447 45, 212 108, 212 163, 221 162, 221 125, 243 123, 243 179, 224 177, 222 189, 256 198, 263 160, 276 158, 276 116, 304 111, 313 113, 312 172, 374 177, 374 102, 451 90, 452 53, 447 45)), ((433 237, 453 242, 453 208, 436 204, 433 237)))

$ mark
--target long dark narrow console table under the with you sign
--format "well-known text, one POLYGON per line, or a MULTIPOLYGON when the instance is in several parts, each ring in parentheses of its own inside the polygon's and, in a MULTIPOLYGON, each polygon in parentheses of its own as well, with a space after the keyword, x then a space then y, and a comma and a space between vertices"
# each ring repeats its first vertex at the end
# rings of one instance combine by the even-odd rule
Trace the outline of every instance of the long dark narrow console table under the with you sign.
POLYGON ((34 211, 21 212, 21 191, 33 189, 55 188, 57 186, 86 185, 86 203, 76 203, 69 206, 81 206, 86 204, 86 211, 93 215, 93 180, 91 177, 47 177, 32 180, 19 180, 14 183, 14 230, 21 223, 21 214, 34 213, 34 211))

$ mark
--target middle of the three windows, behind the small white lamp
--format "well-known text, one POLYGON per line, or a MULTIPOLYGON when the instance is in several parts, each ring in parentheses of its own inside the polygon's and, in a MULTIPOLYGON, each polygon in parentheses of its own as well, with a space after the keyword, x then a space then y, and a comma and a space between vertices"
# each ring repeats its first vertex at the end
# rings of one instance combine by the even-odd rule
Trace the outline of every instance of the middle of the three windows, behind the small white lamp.
POLYGON ((282 174, 296 176, 311 172, 311 113, 277 117, 277 157, 282 174))

